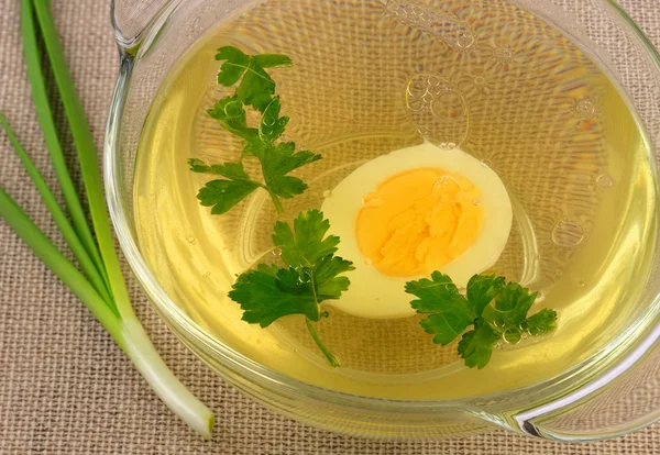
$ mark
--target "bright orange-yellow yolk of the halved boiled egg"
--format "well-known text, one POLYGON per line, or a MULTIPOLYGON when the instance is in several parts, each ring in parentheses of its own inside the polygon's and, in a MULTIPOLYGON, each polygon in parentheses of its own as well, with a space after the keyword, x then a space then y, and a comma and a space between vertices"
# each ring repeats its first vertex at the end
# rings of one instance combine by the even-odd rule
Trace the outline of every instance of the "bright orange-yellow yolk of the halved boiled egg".
POLYGON ((355 235, 366 262, 387 276, 428 275, 465 252, 482 231, 481 191, 438 168, 410 169, 364 196, 355 235))

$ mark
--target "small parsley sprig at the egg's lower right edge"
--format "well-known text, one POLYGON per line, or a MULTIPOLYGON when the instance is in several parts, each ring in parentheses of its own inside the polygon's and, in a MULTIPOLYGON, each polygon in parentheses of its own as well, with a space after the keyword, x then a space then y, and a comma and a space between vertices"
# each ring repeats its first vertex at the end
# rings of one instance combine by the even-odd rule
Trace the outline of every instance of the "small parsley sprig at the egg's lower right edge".
POLYGON ((557 312, 549 309, 528 317, 538 292, 495 275, 473 276, 463 296, 449 276, 435 271, 430 280, 408 281, 406 292, 417 297, 413 308, 428 314, 420 324, 433 335, 433 343, 444 346, 463 335, 459 354, 471 368, 485 367, 501 340, 517 343, 522 332, 542 335, 557 321, 557 312))

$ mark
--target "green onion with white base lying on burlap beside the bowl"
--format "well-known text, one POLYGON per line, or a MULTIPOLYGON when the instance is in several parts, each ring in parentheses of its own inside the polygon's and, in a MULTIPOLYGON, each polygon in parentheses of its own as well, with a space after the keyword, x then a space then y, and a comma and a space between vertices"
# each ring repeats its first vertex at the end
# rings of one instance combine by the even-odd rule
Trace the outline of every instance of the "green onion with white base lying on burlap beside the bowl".
POLYGON ((201 436, 209 439, 213 428, 212 412, 167 368, 133 312, 119 257, 114 251, 97 151, 64 58, 59 36, 50 11, 50 2, 21 1, 21 25, 30 84, 46 146, 64 193, 72 223, 2 114, 0 114, 0 125, 6 130, 10 143, 23 163, 28 175, 34 181, 82 271, 80 273, 53 245, 2 188, 0 188, 0 218, 87 306, 165 404, 201 436), (57 138, 40 63, 34 13, 36 13, 38 27, 78 151, 94 229, 90 229, 86 221, 57 138))

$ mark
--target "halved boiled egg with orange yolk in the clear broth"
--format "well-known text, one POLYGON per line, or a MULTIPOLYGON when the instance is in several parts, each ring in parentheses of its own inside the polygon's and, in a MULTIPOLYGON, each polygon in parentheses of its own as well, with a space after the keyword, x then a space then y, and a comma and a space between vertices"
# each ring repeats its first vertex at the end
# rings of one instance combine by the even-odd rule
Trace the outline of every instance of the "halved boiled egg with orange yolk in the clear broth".
POLYGON ((341 238, 337 254, 355 265, 349 290, 327 303, 373 319, 415 314, 405 284, 435 270, 465 287, 497 262, 513 221, 493 169, 428 142, 362 165, 321 210, 341 238))

